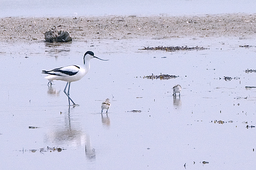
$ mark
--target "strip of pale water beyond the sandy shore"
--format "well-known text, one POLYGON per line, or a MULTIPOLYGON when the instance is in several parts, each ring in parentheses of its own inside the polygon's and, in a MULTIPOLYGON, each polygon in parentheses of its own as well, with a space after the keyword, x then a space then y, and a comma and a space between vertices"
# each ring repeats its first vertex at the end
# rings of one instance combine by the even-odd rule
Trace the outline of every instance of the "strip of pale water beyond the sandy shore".
POLYGON ((2 0, 0 17, 8 16, 84 16, 84 15, 202 15, 255 13, 253 0, 207 1, 60 1, 2 0))

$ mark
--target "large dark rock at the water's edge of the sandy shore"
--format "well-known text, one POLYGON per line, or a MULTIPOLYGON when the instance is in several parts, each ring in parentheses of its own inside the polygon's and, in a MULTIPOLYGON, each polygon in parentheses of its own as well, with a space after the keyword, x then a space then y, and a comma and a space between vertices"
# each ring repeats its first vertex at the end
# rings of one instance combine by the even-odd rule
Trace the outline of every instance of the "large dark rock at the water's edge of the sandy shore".
POLYGON ((72 38, 70 37, 68 31, 65 31, 65 30, 58 31, 56 28, 46 31, 44 33, 44 39, 46 39, 47 42, 51 42, 51 43, 72 41, 72 38))

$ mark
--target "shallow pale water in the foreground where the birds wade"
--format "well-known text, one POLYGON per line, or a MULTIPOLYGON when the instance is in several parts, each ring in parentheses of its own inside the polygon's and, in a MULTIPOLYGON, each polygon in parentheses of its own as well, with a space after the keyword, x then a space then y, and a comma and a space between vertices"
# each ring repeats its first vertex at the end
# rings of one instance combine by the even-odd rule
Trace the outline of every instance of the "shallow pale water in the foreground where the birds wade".
POLYGON ((246 126, 256 126, 256 89, 245 87, 256 86, 256 74, 245 70, 256 69, 255 46, 238 38, 2 43, 1 169, 252 169, 256 128, 246 126), (158 45, 209 49, 139 50, 158 45), (41 70, 82 64, 86 50, 110 60, 93 59, 71 83, 80 106, 68 107, 66 83, 49 88, 41 70), (143 79, 152 73, 179 77, 143 79))

